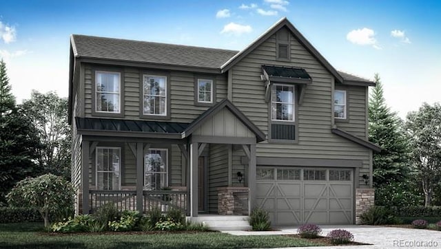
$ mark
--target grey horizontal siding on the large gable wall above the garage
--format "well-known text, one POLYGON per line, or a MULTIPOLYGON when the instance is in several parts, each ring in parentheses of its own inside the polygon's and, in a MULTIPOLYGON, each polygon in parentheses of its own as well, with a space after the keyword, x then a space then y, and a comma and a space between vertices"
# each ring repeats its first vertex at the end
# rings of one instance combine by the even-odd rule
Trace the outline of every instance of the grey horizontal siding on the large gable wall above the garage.
MULTIPOLYGON (((298 142, 296 144, 260 142, 256 147, 257 156, 362 160, 359 182, 360 185, 364 185, 360 176, 369 175, 369 149, 331 133, 333 76, 292 35, 290 49, 291 62, 276 61, 276 34, 274 34, 232 67, 233 103, 265 134, 268 134, 269 113, 264 96, 265 83, 260 80, 261 65, 302 67, 313 79, 311 85, 306 88, 302 105, 297 109, 298 142)), ((349 96, 356 97, 358 93, 349 96)), ((352 106, 358 107, 356 102, 352 106)), ((357 111, 354 109, 353 112, 355 115, 357 111)), ((353 119, 356 120, 356 116, 353 119)))

